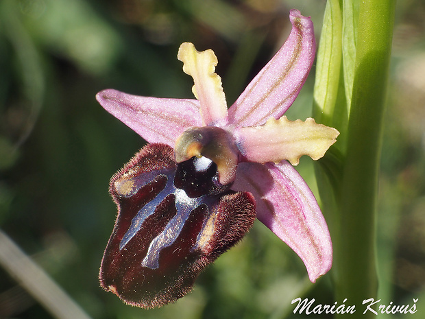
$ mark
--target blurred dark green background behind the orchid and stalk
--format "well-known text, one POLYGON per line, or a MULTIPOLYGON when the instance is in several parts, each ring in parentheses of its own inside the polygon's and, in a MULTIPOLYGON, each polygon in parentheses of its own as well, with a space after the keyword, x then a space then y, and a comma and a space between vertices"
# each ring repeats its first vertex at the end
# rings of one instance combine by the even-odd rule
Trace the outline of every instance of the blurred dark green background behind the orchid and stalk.
MULTIPOLYGON (((298 256, 259 222, 162 309, 126 306, 97 280, 116 216, 109 178, 144 141, 95 94, 193 98, 176 58, 190 41, 215 51, 231 105, 289 35, 289 10, 312 16, 319 39, 325 4, 0 0, 0 229, 91 318, 300 318, 293 298, 333 305, 331 273, 309 283, 298 256)), ((419 298, 409 318, 425 314, 424 17, 424 1, 398 1, 378 202, 379 297, 419 298)), ((311 115, 314 72, 289 119, 311 115)), ((298 169, 317 193, 312 161, 298 169)), ((0 318, 54 317, 0 267, 0 318)))

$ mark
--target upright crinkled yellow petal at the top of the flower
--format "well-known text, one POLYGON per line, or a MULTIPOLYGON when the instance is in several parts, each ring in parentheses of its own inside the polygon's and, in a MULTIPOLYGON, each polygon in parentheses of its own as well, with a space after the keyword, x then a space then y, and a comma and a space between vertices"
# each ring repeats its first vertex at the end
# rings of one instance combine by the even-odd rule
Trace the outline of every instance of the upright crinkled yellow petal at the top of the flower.
POLYGON ((228 108, 221 78, 215 73, 218 60, 214 51, 208 49, 199 52, 192 43, 182 43, 177 58, 183 62, 184 73, 193 78, 195 85, 192 91, 199 100, 204 124, 226 125, 228 108))

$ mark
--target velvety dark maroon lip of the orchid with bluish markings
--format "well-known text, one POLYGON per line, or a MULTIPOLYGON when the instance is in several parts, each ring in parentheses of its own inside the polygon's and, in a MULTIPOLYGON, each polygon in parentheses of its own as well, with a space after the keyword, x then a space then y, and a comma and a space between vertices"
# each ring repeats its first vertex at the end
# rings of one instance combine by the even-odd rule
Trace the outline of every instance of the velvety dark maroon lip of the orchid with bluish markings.
POLYGON ((184 296, 202 270, 252 226, 255 202, 218 182, 217 165, 150 144, 110 181, 118 206, 100 268, 105 290, 125 303, 160 307, 184 296))

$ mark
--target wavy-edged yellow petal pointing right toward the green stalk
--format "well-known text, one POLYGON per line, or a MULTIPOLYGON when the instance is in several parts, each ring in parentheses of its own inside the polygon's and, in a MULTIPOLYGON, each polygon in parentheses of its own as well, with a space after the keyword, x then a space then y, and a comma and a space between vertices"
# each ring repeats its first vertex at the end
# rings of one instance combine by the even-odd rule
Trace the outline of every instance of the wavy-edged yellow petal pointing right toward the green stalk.
POLYGON ((321 158, 338 135, 335 128, 318 124, 312 118, 289 121, 285 116, 278 120, 271 118, 263 126, 235 130, 236 145, 247 161, 288 160, 292 165, 298 165, 302 155, 313 160, 321 158))

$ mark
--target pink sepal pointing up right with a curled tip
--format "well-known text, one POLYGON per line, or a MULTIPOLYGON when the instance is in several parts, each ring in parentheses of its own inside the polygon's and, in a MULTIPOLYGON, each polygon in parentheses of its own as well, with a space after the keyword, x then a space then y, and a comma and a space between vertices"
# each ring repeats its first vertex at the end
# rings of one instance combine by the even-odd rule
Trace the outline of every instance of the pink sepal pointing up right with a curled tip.
POLYGON ((234 126, 262 125, 273 116, 280 118, 298 96, 315 58, 316 43, 311 19, 291 10, 293 25, 278 53, 248 84, 229 108, 234 126))

